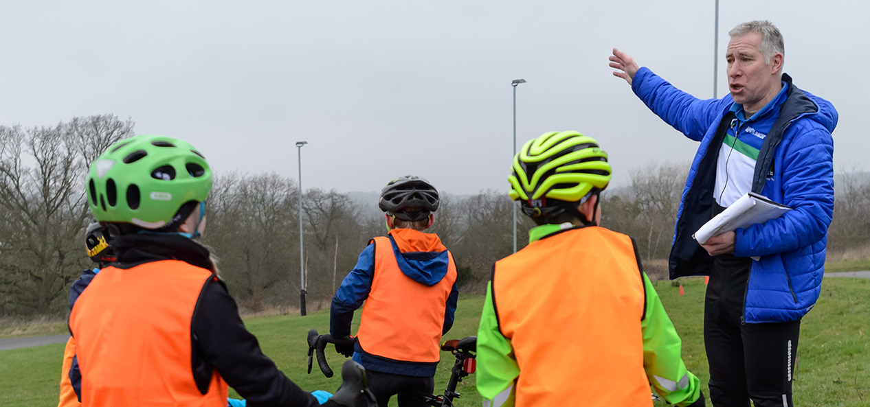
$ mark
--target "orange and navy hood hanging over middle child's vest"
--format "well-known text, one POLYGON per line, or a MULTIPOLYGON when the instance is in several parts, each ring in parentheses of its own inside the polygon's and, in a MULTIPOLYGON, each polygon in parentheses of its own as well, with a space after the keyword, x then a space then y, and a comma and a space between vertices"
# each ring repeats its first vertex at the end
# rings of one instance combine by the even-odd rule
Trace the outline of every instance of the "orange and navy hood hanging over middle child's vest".
POLYGON ((394 229, 390 237, 395 243, 398 268, 419 284, 432 286, 438 284, 446 275, 450 255, 441 239, 434 233, 423 233, 413 229, 394 229))

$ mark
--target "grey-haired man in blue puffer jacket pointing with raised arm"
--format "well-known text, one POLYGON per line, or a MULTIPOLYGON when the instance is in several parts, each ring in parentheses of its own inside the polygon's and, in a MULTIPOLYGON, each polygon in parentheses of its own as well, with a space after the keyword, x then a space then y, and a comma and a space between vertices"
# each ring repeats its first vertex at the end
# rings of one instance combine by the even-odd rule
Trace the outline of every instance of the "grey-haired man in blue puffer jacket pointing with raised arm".
POLYGON ((728 35, 730 95, 721 99, 678 90, 616 49, 610 66, 655 114, 700 142, 669 265, 671 278, 710 276, 704 339, 713 404, 792 406, 800 318, 819 297, 833 215, 837 111, 782 73, 785 47, 772 23, 741 23, 728 35), (693 239, 750 191, 793 210, 703 245, 693 239))

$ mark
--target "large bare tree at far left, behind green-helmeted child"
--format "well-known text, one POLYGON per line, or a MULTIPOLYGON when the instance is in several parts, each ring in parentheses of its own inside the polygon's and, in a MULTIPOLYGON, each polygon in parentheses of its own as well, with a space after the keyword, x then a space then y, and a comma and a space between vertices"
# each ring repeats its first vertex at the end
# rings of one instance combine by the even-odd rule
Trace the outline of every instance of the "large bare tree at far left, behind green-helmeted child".
POLYGON ((84 266, 88 214, 84 176, 133 123, 111 115, 54 127, 0 126, 0 290, 6 312, 63 310, 68 284, 84 266))

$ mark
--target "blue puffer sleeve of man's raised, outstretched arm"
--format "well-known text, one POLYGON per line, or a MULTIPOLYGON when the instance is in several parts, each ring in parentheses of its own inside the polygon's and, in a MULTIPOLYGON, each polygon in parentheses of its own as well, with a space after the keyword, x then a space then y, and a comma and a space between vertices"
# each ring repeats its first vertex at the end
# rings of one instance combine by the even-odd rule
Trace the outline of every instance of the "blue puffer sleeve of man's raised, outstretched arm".
POLYGON ((733 103, 730 95, 706 100, 693 97, 646 67, 634 74, 632 90, 653 113, 695 141, 701 141, 719 113, 733 103))

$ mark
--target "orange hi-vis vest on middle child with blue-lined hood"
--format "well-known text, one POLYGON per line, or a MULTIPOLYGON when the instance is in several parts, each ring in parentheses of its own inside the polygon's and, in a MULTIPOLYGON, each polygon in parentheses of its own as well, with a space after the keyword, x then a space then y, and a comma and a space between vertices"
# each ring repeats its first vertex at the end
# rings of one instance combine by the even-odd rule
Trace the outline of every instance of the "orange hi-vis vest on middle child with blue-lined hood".
MULTIPOLYGON (((446 250, 438 236, 431 233, 395 229, 390 235, 402 253, 446 250)), ((357 332, 359 345, 378 357, 437 364, 447 297, 456 282, 453 256, 447 252, 445 277, 426 286, 399 269, 389 237, 375 237, 372 242, 374 277, 357 332)))

